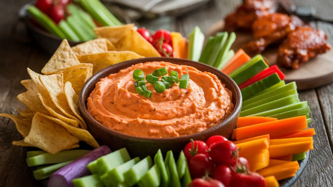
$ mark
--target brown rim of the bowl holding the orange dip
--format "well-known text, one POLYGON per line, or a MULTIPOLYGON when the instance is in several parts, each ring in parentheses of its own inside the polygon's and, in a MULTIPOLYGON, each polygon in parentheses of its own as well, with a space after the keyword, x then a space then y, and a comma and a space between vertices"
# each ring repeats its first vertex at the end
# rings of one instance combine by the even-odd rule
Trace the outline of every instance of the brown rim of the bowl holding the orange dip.
MULTIPOLYGON (((87 110, 87 106, 86 106, 86 101, 83 98, 84 93, 87 92, 87 89, 88 89, 88 87, 91 84, 96 84, 99 81, 99 80, 97 81, 96 79, 98 77, 100 77, 102 74, 105 74, 106 72, 109 72, 112 69, 117 68, 118 66, 126 66, 128 64, 128 67, 130 67, 131 65, 137 64, 137 63, 133 64, 133 62, 136 62, 138 60, 142 61, 143 59, 145 59, 146 62, 154 62, 154 61, 158 61, 158 62, 161 62, 161 61, 169 62, 169 60, 170 60, 170 58, 167 58, 167 57, 150 57, 150 58, 140 58, 140 59, 134 59, 134 60, 129 60, 129 61, 121 62, 121 63, 109 66, 109 67, 107 67, 107 68, 99 71, 98 73, 96 73, 95 75, 93 75, 88 81, 86 81, 86 83, 83 85, 83 87, 82 87, 82 89, 80 91, 80 95, 79 95, 79 109, 80 109, 81 115, 83 115, 86 119, 88 119, 88 121, 86 123, 94 123, 97 128, 102 128, 102 130, 108 131, 108 133, 110 133, 112 135, 122 136, 123 138, 127 138, 127 139, 135 139, 135 140, 141 140, 141 141, 184 140, 184 139, 190 139, 190 138, 192 138, 193 136, 196 136, 196 135, 208 134, 208 133, 210 133, 212 131, 215 131, 215 130, 219 129, 221 126, 224 126, 224 125, 227 125, 228 123, 230 123, 234 118, 237 117, 237 114, 240 112, 241 106, 242 106, 241 92, 240 92, 240 89, 239 89, 238 85, 235 83, 235 81, 233 81, 228 75, 226 75, 225 73, 221 72, 220 70, 218 70, 218 69, 216 69, 216 68, 214 68, 212 66, 209 66, 209 65, 201 63, 201 62, 195 62, 195 61, 191 61, 191 60, 187 60, 187 59, 175 58, 177 60, 181 60, 181 61, 188 62, 188 63, 195 63, 195 64, 198 64, 199 66, 206 67, 208 69, 212 69, 212 70, 218 71, 218 72, 220 72, 220 74, 222 75, 222 77, 225 78, 224 81, 230 82, 231 85, 233 87, 235 87, 236 93, 232 93, 232 95, 233 95, 233 97, 236 97, 236 103, 234 104, 234 109, 232 110, 232 112, 230 113, 230 115, 227 118, 225 118, 221 123, 219 123, 219 124, 217 124, 217 125, 215 125, 213 127, 210 127, 210 128, 208 128, 206 130, 197 132, 197 133, 193 133, 193 134, 189 134, 189 135, 184 135, 184 136, 178 136, 178 137, 166 137, 166 138, 163 138, 163 137, 162 138, 150 138, 150 137, 133 136, 133 135, 128 135, 128 134, 125 134, 125 133, 118 132, 116 130, 113 130, 113 129, 110 129, 110 128, 104 126, 103 124, 101 124, 100 122, 98 122, 95 118, 93 118, 89 114, 89 112, 87 110)), ((108 76, 108 75, 106 75, 106 76, 108 76)), ((225 82, 222 82, 222 83, 225 83, 225 82)))

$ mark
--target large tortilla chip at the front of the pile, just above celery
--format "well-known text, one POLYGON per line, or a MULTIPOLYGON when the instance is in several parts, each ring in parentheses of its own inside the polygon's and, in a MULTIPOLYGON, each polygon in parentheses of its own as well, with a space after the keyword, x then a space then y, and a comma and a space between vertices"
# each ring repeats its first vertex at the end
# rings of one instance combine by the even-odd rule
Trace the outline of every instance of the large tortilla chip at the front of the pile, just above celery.
POLYGON ((68 133, 62 126, 45 118, 44 114, 37 112, 32 118, 31 130, 24 138, 24 142, 55 154, 79 143, 79 139, 68 133))

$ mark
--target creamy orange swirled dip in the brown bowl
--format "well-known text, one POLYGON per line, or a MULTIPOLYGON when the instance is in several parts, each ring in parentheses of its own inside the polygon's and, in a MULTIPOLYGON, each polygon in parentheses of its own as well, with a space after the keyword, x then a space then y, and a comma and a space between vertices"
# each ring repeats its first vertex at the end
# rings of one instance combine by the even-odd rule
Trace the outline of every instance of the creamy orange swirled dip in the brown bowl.
MULTIPOLYGON (((160 77, 161 80, 161 77, 160 77)), ((88 112, 100 123, 116 131, 140 137, 176 137, 217 125, 233 110, 232 93, 209 72, 169 62, 147 62, 102 78, 87 100, 88 112), (151 98, 140 96, 134 86, 133 71, 145 76, 166 67, 179 78, 189 73, 187 89, 173 84, 157 93, 146 80, 151 98)))

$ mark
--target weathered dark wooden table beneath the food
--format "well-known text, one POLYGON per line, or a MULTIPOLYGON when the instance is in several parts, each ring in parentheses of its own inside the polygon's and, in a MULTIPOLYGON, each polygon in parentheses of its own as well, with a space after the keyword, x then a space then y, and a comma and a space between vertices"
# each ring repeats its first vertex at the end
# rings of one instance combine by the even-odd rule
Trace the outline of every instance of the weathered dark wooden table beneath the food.
MULTIPOLYGON (((10 37, 11 27, 17 20, 17 11, 30 0, 0 1, 0 113, 18 114, 17 108, 23 105, 16 99, 25 92, 21 80, 30 79, 26 68, 39 72, 50 58, 30 43, 22 43, 10 37)), ((241 0, 214 0, 199 10, 173 18, 162 17, 158 20, 142 20, 140 24, 149 29, 165 28, 181 32, 187 36, 195 25, 203 32, 215 22, 230 13, 241 0)), ((288 0, 285 0, 288 2, 288 0)), ((333 18, 332 0, 291 0, 296 5, 316 7, 321 17, 333 18)), ((323 29, 328 40, 333 43, 333 25, 317 22, 315 27, 323 29)), ((24 35, 23 27, 18 30, 24 35)), ((315 128, 314 150, 311 151, 308 165, 294 187, 333 186, 333 84, 299 93, 300 100, 308 101, 311 108, 312 123, 315 128)), ((25 162, 24 148, 12 146, 13 140, 21 140, 15 124, 8 118, 0 118, 0 186, 38 187, 31 170, 25 162)))

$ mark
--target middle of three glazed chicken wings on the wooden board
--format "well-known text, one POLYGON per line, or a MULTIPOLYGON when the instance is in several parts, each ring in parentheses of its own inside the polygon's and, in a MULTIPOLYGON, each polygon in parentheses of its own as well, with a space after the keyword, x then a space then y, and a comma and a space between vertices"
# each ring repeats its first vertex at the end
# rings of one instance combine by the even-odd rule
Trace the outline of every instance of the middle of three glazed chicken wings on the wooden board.
POLYGON ((297 16, 272 13, 258 18, 252 25, 254 41, 245 46, 249 54, 262 52, 271 43, 281 42, 289 32, 303 25, 297 16))

